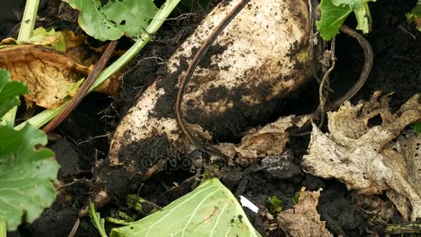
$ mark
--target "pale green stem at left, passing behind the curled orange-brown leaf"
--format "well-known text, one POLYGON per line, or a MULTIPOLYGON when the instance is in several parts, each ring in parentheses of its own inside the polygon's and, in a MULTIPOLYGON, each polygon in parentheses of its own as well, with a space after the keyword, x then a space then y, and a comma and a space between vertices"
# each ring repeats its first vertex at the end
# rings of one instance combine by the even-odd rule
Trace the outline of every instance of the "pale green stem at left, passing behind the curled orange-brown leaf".
MULTIPOLYGON (((19 29, 19 35, 17 36, 18 41, 26 41, 32 37, 32 33, 37 19, 39 0, 27 0, 24 10, 24 16, 21 21, 21 28, 19 29)), ((3 123, 1 124, 12 124, 15 125, 17 106, 10 109, 10 111, 4 115, 3 123)))

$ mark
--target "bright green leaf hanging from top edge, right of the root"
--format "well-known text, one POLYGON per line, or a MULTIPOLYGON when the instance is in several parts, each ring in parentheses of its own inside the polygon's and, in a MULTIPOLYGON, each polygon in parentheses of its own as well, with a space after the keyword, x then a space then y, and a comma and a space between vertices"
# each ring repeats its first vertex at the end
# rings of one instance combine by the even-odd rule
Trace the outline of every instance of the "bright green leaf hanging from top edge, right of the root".
POLYGON ((337 35, 343 21, 351 12, 355 12, 357 17, 357 30, 368 33, 371 28, 369 1, 376 0, 321 0, 321 19, 316 22, 316 26, 323 40, 331 40, 337 35))

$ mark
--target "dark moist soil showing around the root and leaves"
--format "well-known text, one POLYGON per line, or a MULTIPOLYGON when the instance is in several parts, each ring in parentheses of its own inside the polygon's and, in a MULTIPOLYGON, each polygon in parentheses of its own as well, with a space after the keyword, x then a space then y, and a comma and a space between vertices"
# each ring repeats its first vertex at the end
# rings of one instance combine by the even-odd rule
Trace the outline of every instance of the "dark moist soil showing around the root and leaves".
MULTIPOLYGON (((352 98, 352 103, 368 100, 373 91, 381 90, 385 94, 394 91, 391 106, 397 108, 413 94, 421 91, 421 33, 411 24, 407 24, 404 16, 415 3, 415 0, 383 0, 370 3, 373 31, 366 35, 366 38, 373 46, 374 64, 366 84, 352 98)), ((63 22, 63 17, 57 17, 59 6, 60 1, 42 1, 38 24, 75 30, 77 24, 74 21, 63 22)), ((0 3, 2 39, 16 36, 23 8, 24 3, 21 0, 0 3)), ((49 135, 48 146, 55 151, 57 161, 62 166, 59 177, 64 186, 59 189, 53 206, 44 211, 41 218, 32 225, 21 225, 19 231, 10 233, 10 236, 67 236, 70 233, 80 210, 86 207, 89 195, 98 191, 93 173, 107 155, 109 141, 118 122, 135 103, 143 89, 163 71, 165 60, 192 33, 208 8, 193 7, 188 10, 195 13, 166 21, 161 30, 154 35, 154 41, 147 44, 132 60, 125 69, 123 85, 118 94, 112 97, 90 94, 71 116, 49 135)), ((174 15, 177 14, 179 15, 179 12, 174 15)), ((346 24, 355 26, 355 21, 351 19, 346 21, 346 24)), ((129 44, 129 40, 123 40, 120 45, 127 48, 129 44)), ((343 34, 337 37, 336 57, 337 67, 332 76, 332 89, 335 92, 332 99, 352 86, 364 64, 364 54, 359 44, 343 34)), ((318 105, 318 98, 318 84, 312 80, 294 95, 280 100, 282 109, 272 112, 271 116, 258 122, 250 122, 250 125, 264 125, 278 116, 311 113, 318 105)), ((173 104, 166 106, 173 107, 173 104)), ((220 138, 226 141, 230 139, 233 137, 220 138)), ((262 168, 262 164, 227 167, 221 171, 221 181, 236 196, 244 195, 254 204, 268 207, 268 197, 276 195, 283 200, 283 209, 292 207, 290 200, 301 187, 305 186, 310 191, 323 188, 317 209, 321 213, 321 220, 326 221, 327 228, 333 234, 367 236, 370 231, 382 236, 382 227, 370 225, 370 216, 360 211, 352 198, 352 192, 348 191, 345 185, 335 179, 321 179, 303 171, 301 159, 307 152, 309 142, 308 136, 293 137, 289 141, 282 155, 288 161, 287 172, 268 171, 262 168)), ((136 177, 128 177, 125 173, 110 173, 109 180, 120 188, 121 193, 139 193, 143 198, 165 206, 197 186, 195 181, 181 184, 192 175, 194 173, 190 173, 188 168, 175 164, 142 184, 136 182, 136 177), (174 184, 181 185, 168 191, 174 184)), ((98 209, 102 216, 108 216, 111 211, 123 207, 124 202, 124 199, 108 200, 98 209)), ((265 233, 265 220, 248 209, 245 211, 256 229, 265 233)), ((399 221, 399 218, 396 221, 399 221)), ((112 227, 109 224, 106 226, 108 230, 112 227)), ((85 215, 80 219, 75 236, 99 235, 85 215)), ((271 236, 281 234, 274 232, 271 236)))

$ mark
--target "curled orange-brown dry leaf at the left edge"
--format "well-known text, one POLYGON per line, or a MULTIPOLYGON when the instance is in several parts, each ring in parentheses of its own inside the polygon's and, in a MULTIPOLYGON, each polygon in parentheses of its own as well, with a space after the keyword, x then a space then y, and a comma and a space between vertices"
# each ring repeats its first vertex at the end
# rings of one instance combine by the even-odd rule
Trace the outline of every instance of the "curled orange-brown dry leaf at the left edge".
POLYGON ((48 109, 60 107, 78 81, 78 73, 88 72, 87 67, 64 53, 30 45, 0 49, 0 67, 10 71, 13 80, 27 82, 27 101, 48 109))

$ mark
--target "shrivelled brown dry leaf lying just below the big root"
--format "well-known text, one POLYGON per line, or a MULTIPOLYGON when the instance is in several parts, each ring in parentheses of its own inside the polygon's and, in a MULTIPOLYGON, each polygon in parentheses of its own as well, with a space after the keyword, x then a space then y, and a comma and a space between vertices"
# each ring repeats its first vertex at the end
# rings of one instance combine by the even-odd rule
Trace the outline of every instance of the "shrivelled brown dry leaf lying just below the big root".
POLYGON ((301 128, 310 121, 310 116, 280 117, 259 130, 252 130, 241 139, 239 146, 233 143, 220 143, 216 147, 222 154, 237 164, 247 165, 258 158, 268 155, 280 155, 289 141, 289 130, 301 128))

